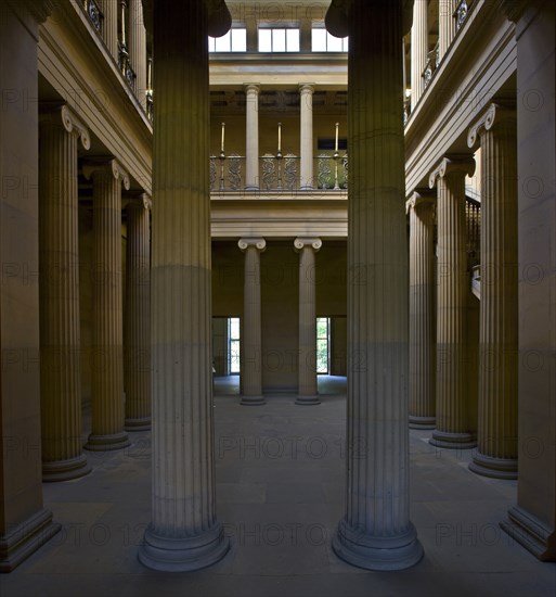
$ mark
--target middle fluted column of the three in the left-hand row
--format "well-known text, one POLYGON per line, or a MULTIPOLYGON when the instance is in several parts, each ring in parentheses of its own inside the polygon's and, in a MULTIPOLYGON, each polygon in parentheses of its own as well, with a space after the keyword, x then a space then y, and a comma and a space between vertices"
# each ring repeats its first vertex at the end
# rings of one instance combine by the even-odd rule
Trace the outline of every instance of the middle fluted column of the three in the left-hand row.
POLYGON ((90 163, 93 181, 92 429, 93 452, 129 446, 124 430, 124 331, 121 296, 121 186, 129 177, 116 160, 90 163))

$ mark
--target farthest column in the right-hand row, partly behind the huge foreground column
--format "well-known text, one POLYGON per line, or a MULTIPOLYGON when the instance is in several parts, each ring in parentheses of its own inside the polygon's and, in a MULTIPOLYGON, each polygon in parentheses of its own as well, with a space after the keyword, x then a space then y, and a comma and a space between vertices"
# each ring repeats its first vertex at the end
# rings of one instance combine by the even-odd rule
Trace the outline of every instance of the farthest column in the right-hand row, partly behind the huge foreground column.
POLYGON ((415 192, 410 212, 410 428, 436 427, 435 202, 415 192))

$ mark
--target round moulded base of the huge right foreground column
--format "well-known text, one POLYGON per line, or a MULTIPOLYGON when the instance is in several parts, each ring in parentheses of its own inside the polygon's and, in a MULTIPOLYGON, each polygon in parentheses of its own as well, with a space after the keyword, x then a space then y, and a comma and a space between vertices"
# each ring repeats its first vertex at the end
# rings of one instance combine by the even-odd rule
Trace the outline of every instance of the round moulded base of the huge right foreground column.
POLYGON ((332 548, 338 558, 365 570, 403 570, 415 566, 423 558, 423 546, 411 522, 403 535, 375 537, 341 520, 332 541, 332 548))

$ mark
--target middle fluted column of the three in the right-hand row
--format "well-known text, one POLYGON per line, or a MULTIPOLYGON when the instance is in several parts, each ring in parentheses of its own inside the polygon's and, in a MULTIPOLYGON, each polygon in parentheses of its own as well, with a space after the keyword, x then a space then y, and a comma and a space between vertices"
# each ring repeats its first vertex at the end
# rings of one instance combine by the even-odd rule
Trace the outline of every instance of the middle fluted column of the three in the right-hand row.
POLYGON ((437 193, 437 429, 430 443, 445 448, 475 447, 469 420, 469 351, 465 176, 473 158, 444 157, 430 174, 437 193))

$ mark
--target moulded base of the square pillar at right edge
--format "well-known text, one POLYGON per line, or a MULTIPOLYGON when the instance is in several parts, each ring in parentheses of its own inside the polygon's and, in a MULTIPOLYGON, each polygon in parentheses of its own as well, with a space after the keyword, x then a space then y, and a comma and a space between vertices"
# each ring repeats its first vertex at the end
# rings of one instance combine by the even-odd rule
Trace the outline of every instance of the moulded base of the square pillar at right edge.
POLYGON ((556 561, 556 532, 554 529, 547 529, 544 523, 519 506, 509 508, 507 515, 508 520, 503 520, 500 523, 503 531, 541 561, 556 561))

